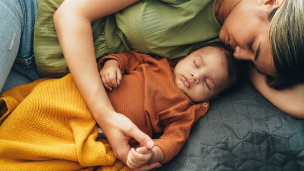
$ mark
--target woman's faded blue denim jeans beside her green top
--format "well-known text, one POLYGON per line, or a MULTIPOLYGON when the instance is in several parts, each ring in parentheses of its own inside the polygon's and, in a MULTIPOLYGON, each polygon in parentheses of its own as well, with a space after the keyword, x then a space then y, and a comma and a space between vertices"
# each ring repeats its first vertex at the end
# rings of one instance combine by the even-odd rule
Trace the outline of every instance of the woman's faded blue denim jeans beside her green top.
POLYGON ((36 13, 37 0, 0 0, 1 92, 43 77, 33 53, 36 13))

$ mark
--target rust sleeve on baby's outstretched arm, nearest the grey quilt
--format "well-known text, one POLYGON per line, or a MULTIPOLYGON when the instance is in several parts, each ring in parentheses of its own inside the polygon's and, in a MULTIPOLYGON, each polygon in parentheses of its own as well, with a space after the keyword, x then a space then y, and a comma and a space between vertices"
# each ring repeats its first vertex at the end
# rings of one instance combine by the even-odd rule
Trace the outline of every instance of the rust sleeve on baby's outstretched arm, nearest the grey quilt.
POLYGON ((208 108, 209 102, 195 104, 186 112, 168 119, 162 136, 153 140, 164 154, 162 164, 172 160, 179 153, 189 137, 191 127, 205 115, 208 108))

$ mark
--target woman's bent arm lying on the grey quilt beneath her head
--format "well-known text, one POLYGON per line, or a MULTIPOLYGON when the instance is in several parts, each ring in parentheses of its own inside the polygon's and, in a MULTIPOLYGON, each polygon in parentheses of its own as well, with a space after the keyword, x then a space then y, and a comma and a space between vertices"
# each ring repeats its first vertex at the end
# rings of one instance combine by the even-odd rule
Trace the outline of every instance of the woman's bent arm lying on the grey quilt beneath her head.
POLYGON ((267 86, 265 76, 250 67, 249 79, 252 85, 273 105, 285 113, 304 119, 304 84, 276 90, 267 86))

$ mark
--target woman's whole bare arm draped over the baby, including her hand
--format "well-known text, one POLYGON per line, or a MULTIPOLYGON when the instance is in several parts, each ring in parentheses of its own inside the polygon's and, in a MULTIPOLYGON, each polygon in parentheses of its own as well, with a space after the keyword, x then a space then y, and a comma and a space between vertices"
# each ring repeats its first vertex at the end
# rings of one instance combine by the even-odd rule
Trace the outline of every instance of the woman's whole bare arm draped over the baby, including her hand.
MULTIPOLYGON (((53 15, 67 65, 93 117, 102 128, 115 156, 126 162, 131 137, 152 148, 152 139, 127 117, 114 111, 100 80, 91 23, 138 0, 65 0, 53 15)), ((152 168, 151 168, 152 169, 152 168)))

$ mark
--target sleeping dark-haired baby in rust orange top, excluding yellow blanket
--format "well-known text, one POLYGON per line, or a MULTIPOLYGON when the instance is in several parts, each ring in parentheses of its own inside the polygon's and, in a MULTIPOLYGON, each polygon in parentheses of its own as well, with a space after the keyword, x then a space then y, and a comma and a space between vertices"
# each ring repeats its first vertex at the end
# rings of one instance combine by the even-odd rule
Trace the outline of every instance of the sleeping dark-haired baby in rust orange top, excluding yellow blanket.
POLYGON ((241 73, 239 62, 222 43, 205 45, 174 65, 167 58, 136 52, 109 55, 98 63, 115 111, 150 136, 163 132, 153 140, 152 150, 129 151, 130 168, 166 163, 177 155, 193 124, 206 113, 207 101, 235 86, 241 73))

